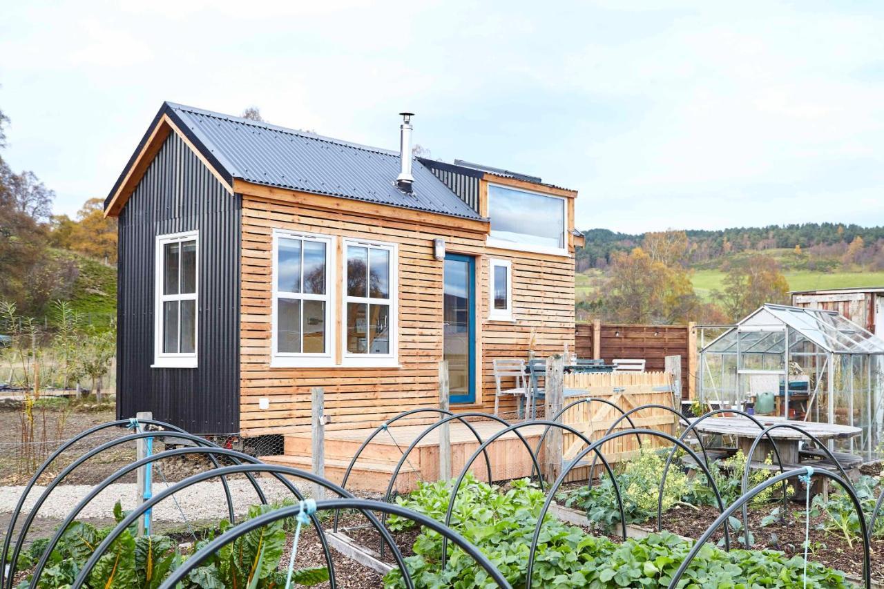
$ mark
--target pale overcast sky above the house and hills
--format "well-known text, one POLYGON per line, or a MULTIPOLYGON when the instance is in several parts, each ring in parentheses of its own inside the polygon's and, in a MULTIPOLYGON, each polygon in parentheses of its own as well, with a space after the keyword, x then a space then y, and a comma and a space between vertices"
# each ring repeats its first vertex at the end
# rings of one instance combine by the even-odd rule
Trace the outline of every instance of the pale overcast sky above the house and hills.
POLYGON ((580 191, 577 226, 884 223, 874 2, 7 2, 3 156, 73 214, 164 100, 580 191), (123 7, 118 6, 124 5, 123 7), (714 6, 712 5, 714 4, 714 6), (627 7, 628 6, 628 7, 627 7))

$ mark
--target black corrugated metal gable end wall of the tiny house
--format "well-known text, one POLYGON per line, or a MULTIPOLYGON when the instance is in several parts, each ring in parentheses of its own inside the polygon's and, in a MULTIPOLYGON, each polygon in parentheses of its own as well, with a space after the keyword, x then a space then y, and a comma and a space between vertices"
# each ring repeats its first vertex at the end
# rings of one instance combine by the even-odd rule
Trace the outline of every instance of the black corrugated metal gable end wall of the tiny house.
POLYGON ((119 215, 117 415, 240 430, 240 195, 171 133, 119 215), (198 230, 198 368, 154 361, 156 236, 198 230))

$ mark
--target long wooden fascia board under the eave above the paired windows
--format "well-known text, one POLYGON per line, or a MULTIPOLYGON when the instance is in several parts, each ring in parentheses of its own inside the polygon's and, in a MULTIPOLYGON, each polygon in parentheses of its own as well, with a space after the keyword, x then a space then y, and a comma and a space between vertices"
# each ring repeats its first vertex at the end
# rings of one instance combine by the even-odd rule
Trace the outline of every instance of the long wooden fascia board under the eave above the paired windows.
POLYGON ((453 217, 441 213, 428 212, 425 210, 406 209, 389 204, 366 203, 352 198, 339 196, 316 195, 300 190, 288 188, 264 186, 246 180, 234 179, 233 191, 247 196, 253 196, 280 203, 294 203, 313 209, 335 210, 341 212, 358 213, 366 217, 376 218, 399 218, 402 220, 415 221, 425 226, 446 227, 462 229, 475 233, 488 233, 487 221, 471 218, 453 217))

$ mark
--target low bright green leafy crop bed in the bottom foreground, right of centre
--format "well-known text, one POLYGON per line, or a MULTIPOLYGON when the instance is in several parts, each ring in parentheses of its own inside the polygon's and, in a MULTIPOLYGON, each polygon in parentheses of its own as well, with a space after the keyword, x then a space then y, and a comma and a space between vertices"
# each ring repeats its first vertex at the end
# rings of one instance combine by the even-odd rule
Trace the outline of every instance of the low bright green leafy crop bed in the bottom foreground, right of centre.
MULTIPOLYGON (((484 483, 478 483, 484 486, 484 483)), ((484 489, 483 489, 484 491, 484 489)), ((529 499, 530 486, 515 490, 511 500, 519 498, 521 508, 506 509, 474 506, 476 519, 455 524, 470 543, 478 547, 513 586, 525 583, 525 571, 531 538, 539 510, 529 499), (527 501, 526 501, 527 500, 527 501), (493 512, 498 517, 490 516, 493 512), (507 513, 506 516, 501 514, 507 513)), ((459 493, 460 495, 460 493, 459 493)), ((481 497, 482 493, 471 495, 481 497)), ((433 504, 435 493, 417 493, 404 499, 408 507, 430 515, 438 513, 433 504), (423 501, 428 501, 423 504, 423 501)), ((477 500, 481 501, 481 500, 477 500)), ((555 587, 665 587, 669 584, 691 543, 668 532, 650 534, 644 539, 629 539, 616 544, 582 529, 547 518, 541 528, 532 582, 536 586, 555 587)), ((497 585, 460 548, 448 545, 448 562, 441 566, 442 539, 435 532, 424 532, 415 539, 415 555, 406 566, 416 586, 487 587, 497 585)), ((705 545, 690 563, 683 577, 684 587, 802 587, 800 556, 788 558, 781 552, 732 550, 729 553, 705 545)), ((404 586, 402 573, 391 570, 385 576, 386 587, 404 586)), ((841 573, 810 562, 808 587, 847 587, 841 573)))

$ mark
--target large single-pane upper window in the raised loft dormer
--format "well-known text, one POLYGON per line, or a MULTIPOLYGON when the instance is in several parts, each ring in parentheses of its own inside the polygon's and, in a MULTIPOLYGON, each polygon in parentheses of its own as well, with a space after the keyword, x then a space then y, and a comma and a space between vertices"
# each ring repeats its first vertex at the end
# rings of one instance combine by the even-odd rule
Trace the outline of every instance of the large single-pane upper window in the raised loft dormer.
POLYGON ((489 184, 487 245, 568 256, 566 205, 561 196, 489 184))

